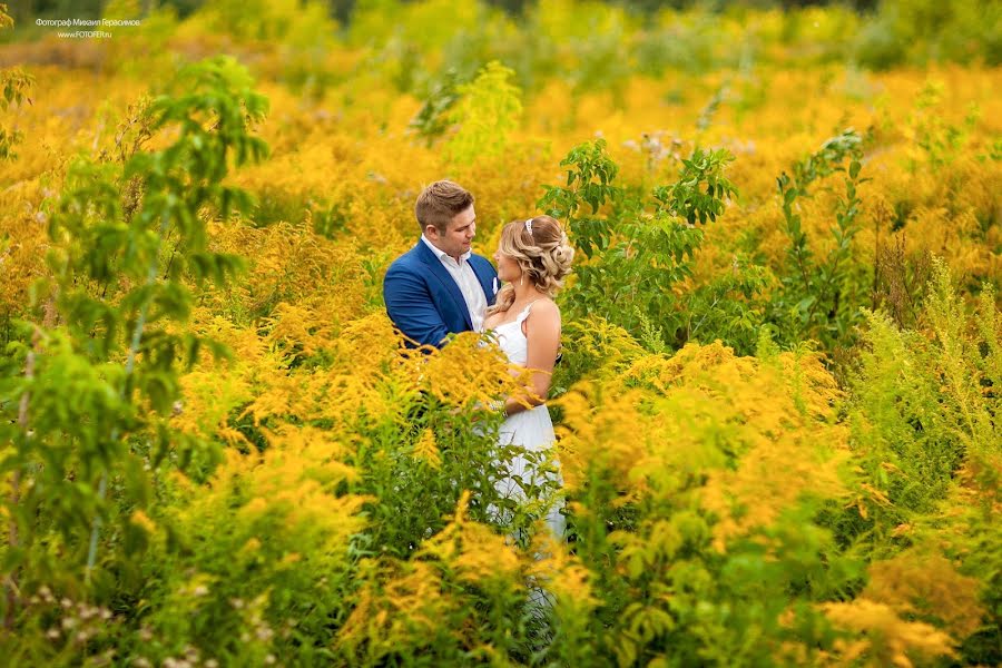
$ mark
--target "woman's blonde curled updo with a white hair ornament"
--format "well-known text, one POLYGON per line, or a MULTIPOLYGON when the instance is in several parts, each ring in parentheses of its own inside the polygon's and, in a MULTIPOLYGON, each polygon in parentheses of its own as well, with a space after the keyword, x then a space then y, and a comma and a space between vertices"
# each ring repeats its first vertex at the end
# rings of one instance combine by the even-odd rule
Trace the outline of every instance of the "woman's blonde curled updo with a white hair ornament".
MULTIPOLYGON (((505 225, 501 230, 500 250, 519 263, 525 281, 532 281, 537 289, 551 298, 563 286, 574 257, 567 234, 550 216, 534 216, 505 225)), ((508 311, 513 303, 514 285, 508 283, 498 293, 488 314, 508 311)))

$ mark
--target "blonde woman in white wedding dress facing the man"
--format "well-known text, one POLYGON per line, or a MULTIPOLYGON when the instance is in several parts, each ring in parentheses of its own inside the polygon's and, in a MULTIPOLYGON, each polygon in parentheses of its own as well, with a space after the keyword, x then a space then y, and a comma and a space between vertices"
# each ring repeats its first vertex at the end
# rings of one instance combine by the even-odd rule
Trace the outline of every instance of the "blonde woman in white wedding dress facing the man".
MULTIPOLYGON (((560 308, 553 297, 573 256, 567 234, 550 216, 512 220, 501 230, 494 262, 505 285, 487 312, 484 328, 494 333, 514 366, 531 372, 524 392, 504 401, 507 418, 499 432, 502 444, 520 445, 531 452, 553 446, 553 423, 546 405, 560 346, 560 308)), ((497 487, 502 494, 524 502, 522 485, 538 485, 543 480, 534 464, 517 456, 510 475, 499 480, 497 487)), ((559 474, 550 473, 550 480, 559 483, 559 474)), ((563 515, 556 503, 546 510, 546 520, 557 537, 563 536, 563 515)))

